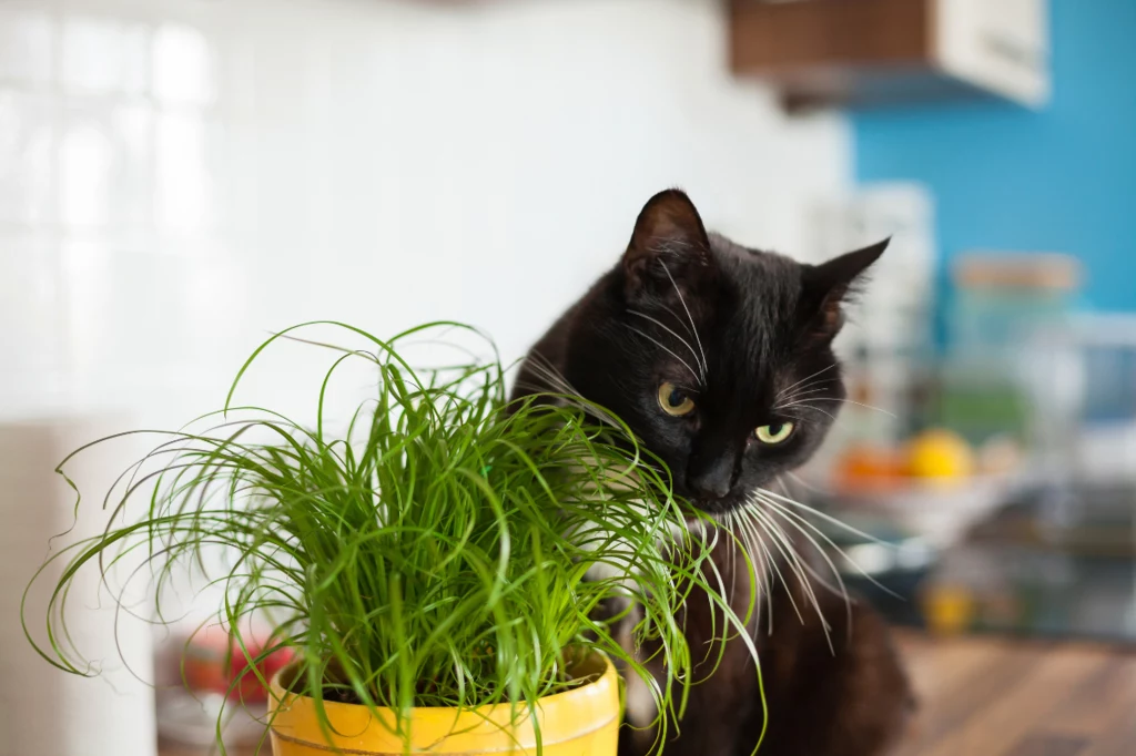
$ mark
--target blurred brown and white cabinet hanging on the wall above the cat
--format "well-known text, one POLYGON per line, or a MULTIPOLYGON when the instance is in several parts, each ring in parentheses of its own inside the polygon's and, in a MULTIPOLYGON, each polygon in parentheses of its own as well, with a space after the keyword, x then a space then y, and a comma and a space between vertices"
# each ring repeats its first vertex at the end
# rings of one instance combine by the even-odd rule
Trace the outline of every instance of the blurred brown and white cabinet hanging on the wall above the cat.
POLYGON ((1046 0, 729 0, 735 74, 790 108, 1050 95, 1046 0))

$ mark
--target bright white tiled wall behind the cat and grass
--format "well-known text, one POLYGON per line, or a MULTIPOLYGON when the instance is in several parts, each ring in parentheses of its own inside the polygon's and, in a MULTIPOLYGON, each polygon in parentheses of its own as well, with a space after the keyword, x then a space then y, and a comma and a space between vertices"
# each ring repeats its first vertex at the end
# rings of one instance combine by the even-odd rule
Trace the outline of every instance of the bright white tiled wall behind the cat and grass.
POLYGON ((668 185, 801 249, 845 127, 733 81, 722 6, 6 0, 0 417, 174 422, 310 318, 517 356, 668 185))

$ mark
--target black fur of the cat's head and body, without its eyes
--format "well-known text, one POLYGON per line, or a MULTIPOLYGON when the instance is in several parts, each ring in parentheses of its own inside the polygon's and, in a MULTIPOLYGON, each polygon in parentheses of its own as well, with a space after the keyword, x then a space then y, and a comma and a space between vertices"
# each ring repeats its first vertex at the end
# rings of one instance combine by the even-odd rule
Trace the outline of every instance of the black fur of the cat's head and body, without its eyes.
MULTIPOLYGON (((800 537, 785 512, 752 497, 804 463, 828 431, 844 398, 832 339, 845 299, 885 246, 801 264, 708 234, 684 193, 661 192, 640 213, 619 263, 534 346, 516 393, 573 390, 611 409, 667 462, 676 493, 722 522, 746 507, 763 510, 768 522, 800 537), (663 412, 663 383, 692 397, 694 411, 663 412), (755 438, 755 428, 785 421, 795 423, 787 442, 755 438)), ((722 539, 715 554, 738 612, 750 606, 751 580, 761 583, 751 627, 769 707, 760 753, 886 754, 912 706, 887 628, 861 604, 847 612, 820 586, 810 593, 778 544, 768 534, 761 540, 771 560, 753 554, 762 566, 757 576, 733 541, 722 539)), ((709 610, 688 605, 690 645, 707 648, 716 638, 709 610)), ((741 641, 728 641, 725 653, 694 688, 666 756, 752 753, 766 720, 755 670, 741 641)), ((649 719, 635 690, 628 695, 629 717, 649 719)), ((653 741, 625 728, 620 756, 653 741)))

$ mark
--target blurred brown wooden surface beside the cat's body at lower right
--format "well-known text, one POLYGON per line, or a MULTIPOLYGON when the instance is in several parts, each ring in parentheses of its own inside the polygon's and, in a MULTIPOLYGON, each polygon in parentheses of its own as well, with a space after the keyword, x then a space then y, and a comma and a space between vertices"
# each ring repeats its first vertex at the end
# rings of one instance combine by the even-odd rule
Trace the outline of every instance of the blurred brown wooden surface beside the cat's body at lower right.
POLYGON ((920 709, 896 756, 1136 756, 1136 652, 919 635, 900 644, 920 709))

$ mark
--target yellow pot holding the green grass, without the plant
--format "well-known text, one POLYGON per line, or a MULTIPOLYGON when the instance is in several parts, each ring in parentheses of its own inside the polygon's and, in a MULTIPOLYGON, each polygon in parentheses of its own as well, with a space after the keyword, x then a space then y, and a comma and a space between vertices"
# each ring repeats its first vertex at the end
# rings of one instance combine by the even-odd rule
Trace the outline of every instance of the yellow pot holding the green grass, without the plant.
MULTIPOLYGON (((285 671, 286 673, 286 671, 285 671)), ((592 682, 567 692, 542 698, 537 704, 543 756, 616 756, 619 739, 619 679, 607 658, 594 656, 582 665, 592 682)), ((325 703, 333 730, 331 742, 316 716, 316 704, 307 696, 286 692, 273 680, 273 754, 275 756, 328 756, 406 754, 402 736, 391 732, 394 714, 378 709, 389 725, 365 706, 325 703)), ((536 754, 533 722, 520 714, 513 720, 508 705, 461 712, 452 708, 416 708, 407 717, 411 754, 536 754)))

